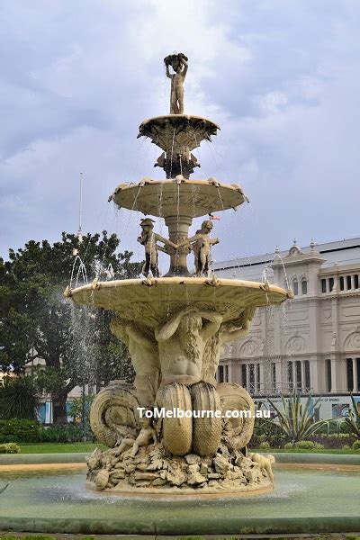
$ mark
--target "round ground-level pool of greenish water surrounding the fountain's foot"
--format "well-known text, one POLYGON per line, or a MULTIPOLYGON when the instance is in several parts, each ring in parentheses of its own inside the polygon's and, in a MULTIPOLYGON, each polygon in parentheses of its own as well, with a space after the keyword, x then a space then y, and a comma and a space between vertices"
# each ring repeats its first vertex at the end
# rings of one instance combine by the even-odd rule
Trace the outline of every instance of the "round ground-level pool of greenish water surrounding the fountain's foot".
MULTIPOLYGON (((337 456, 338 457, 338 456, 337 456)), ((320 456, 314 456, 319 462, 320 456)), ((347 463, 347 462, 346 462, 347 463)), ((321 466, 321 465, 319 465, 321 466)), ((357 471, 275 468, 275 491, 231 499, 86 491, 84 470, 0 471, 0 530, 68 534, 250 535, 356 533, 357 471), (6 494, 6 495, 5 495, 6 494), (194 504, 196 502, 196 504, 194 504)), ((341 468, 341 465, 338 465, 341 468)), ((356 468, 356 467, 353 467, 356 468)))

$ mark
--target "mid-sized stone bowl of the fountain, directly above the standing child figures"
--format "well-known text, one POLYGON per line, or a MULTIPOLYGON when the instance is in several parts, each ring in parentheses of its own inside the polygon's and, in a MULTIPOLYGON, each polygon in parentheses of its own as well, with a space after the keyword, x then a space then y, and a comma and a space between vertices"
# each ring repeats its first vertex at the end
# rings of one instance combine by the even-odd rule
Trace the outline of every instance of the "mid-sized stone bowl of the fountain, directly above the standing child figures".
POLYGON ((221 184, 214 178, 188 180, 183 176, 169 180, 146 178, 139 184, 120 184, 112 194, 112 201, 120 208, 163 218, 179 213, 197 218, 212 211, 236 209, 246 200, 237 184, 221 184))

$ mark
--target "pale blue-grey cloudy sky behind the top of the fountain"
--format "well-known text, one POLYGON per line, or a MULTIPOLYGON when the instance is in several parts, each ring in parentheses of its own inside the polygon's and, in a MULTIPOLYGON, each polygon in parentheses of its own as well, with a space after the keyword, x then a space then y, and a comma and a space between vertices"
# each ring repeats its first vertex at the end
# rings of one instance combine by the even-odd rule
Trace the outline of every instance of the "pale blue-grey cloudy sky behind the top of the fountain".
POLYGON ((83 229, 142 257, 139 213, 107 198, 163 176, 136 136, 168 112, 174 51, 189 57, 185 112, 221 126, 195 177, 250 199, 221 212, 213 257, 359 236, 358 0, 1 0, 0 28, 3 257, 76 232, 80 172, 83 229))

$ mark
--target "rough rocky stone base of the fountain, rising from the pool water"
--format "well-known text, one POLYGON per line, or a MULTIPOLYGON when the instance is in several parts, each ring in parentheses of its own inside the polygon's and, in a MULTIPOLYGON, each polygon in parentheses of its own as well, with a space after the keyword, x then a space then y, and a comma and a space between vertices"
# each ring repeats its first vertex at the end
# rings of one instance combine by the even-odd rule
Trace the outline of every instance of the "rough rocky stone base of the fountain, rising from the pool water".
MULTIPOLYGON (((87 460, 86 487, 113 494, 255 495, 273 491, 265 468, 221 441, 212 457, 169 455, 161 444, 119 455, 116 448, 96 449, 87 460)), ((253 455, 254 456, 254 455, 253 455)), ((256 458, 255 458, 256 459, 256 458)))

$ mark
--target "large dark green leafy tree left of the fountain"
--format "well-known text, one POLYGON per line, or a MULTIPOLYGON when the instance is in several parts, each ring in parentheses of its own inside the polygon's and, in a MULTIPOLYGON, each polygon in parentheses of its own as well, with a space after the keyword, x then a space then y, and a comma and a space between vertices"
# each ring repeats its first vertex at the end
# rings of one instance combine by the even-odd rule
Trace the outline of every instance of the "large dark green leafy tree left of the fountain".
POLYGON ((125 347, 113 338, 112 313, 76 306, 63 297, 70 276, 84 284, 85 275, 124 279, 139 275, 141 264, 131 253, 116 253, 120 240, 62 233, 60 242, 31 240, 0 259, 0 368, 23 374, 36 358, 46 369, 34 368, 39 387, 51 393, 54 422, 67 420, 67 395, 77 385, 108 383, 129 363, 125 347), (78 279, 77 279, 78 278, 78 279))

